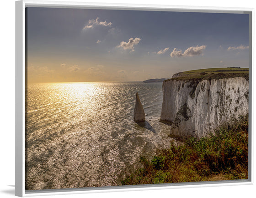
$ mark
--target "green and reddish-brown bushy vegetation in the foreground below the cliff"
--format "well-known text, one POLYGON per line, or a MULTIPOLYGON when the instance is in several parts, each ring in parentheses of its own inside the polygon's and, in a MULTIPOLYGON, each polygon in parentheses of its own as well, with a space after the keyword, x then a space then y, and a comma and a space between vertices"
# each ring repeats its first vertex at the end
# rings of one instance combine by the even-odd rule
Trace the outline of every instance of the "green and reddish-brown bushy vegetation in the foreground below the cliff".
POLYGON ((248 115, 220 126, 201 139, 188 138, 161 148, 142 168, 122 179, 123 185, 178 183, 248 178, 248 115))

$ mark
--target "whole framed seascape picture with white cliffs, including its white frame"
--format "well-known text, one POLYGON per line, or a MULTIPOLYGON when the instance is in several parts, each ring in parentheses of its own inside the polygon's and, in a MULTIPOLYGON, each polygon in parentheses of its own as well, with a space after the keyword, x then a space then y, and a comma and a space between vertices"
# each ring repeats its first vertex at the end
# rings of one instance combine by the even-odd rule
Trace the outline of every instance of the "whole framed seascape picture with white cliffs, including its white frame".
POLYGON ((16 1, 16 195, 250 184, 252 14, 16 1))

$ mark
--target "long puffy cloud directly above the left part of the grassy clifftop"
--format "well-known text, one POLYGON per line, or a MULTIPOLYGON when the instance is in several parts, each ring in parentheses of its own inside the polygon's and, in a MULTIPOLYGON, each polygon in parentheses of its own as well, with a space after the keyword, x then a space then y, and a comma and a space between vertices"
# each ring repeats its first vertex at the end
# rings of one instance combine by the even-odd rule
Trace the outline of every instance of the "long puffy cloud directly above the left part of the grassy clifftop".
POLYGON ((182 53, 182 51, 177 51, 177 48, 174 48, 174 50, 171 52, 171 57, 181 57, 181 56, 199 56, 203 55, 203 50, 206 48, 206 46, 195 46, 195 47, 189 47, 187 50, 182 53))

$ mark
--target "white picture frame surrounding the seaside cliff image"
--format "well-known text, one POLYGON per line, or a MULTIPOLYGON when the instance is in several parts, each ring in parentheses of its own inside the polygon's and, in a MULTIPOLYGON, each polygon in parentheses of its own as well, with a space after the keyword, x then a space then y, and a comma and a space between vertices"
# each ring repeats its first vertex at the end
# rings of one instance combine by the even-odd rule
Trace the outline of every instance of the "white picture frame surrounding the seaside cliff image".
MULTIPOLYGON (((61 1, 32 1, 23 0, 16 1, 16 196, 35 196, 35 195, 64 195, 74 193, 105 193, 105 192, 122 192, 122 191, 137 191, 137 190, 153 190, 153 189, 178 189, 178 188, 193 188, 193 187, 216 187, 216 186, 230 186, 230 185, 244 185, 252 184, 252 171, 248 181, 238 182, 213 182, 213 183, 187 183, 181 184, 176 183, 174 185, 163 185, 163 186, 139 186, 131 187, 125 186, 124 188, 111 187, 111 188, 94 188, 94 189, 58 189, 58 190, 41 190, 41 192, 26 192, 24 188, 25 183, 25 8, 27 6, 35 7, 73 7, 73 8, 111 8, 111 9, 134 9, 134 10, 190 10, 190 11, 213 11, 224 12, 224 13, 236 13, 241 10, 253 13, 253 9, 246 8, 208 8, 208 7, 193 7, 191 6, 171 6, 171 5, 127 5, 127 4, 107 4, 107 3, 83 3, 83 2, 61 2, 61 1)), ((251 20, 253 20, 253 14, 251 14, 251 20)), ((253 22, 251 23, 251 52, 253 52, 253 22)), ((250 59, 251 68, 253 67, 253 57, 250 59)), ((253 70, 251 70, 252 75, 253 70)), ((252 78, 251 78, 252 79, 252 78)), ((252 81, 251 91, 252 91, 252 81)), ((251 98, 252 101, 252 98, 251 98)), ((250 104, 250 106, 252 106, 250 104)), ((252 127, 252 125, 251 125, 252 127)), ((252 134, 251 134, 252 135, 252 134)), ((252 136, 251 136, 252 142, 252 136)), ((251 145, 252 146, 252 145, 251 145)), ((251 150, 252 151, 252 150, 251 150)), ((252 165, 252 159, 251 159, 252 165)), ((251 167, 252 169, 252 167, 251 167)))

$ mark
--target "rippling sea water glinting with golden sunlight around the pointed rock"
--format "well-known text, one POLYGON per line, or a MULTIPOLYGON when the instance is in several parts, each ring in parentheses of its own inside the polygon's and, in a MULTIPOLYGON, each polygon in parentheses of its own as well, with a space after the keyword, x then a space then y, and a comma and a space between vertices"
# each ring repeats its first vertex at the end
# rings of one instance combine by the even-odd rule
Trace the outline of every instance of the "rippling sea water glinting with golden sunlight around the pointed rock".
POLYGON ((27 190, 120 185, 168 145, 162 83, 37 83, 26 87, 27 190), (133 122, 138 91, 146 122, 133 122))

